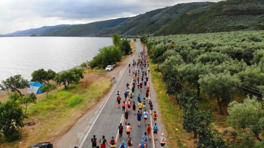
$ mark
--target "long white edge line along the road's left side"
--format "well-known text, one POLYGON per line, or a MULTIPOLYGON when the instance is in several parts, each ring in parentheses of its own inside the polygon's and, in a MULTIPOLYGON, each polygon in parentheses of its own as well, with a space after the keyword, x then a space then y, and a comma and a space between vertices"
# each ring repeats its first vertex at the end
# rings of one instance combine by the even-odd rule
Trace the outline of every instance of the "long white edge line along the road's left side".
MULTIPOLYGON (((136 49, 136 51, 137 51, 137 49, 136 49)), ((135 55, 134 55, 134 56, 135 56, 135 55)), ((133 58, 131 58, 131 60, 130 60, 130 62, 127 64, 127 66, 131 63, 132 59, 133 59, 133 58)), ((126 66, 126 68, 127 68, 127 66, 126 66)), ((125 70, 126 70, 126 68, 125 68, 125 70)), ((82 148, 82 146, 83 146, 83 144, 84 144, 84 141, 87 139, 87 137, 88 137, 90 131, 91 131, 92 128, 93 128, 93 125, 95 124, 95 122, 97 121, 98 117, 100 116, 100 114, 101 114, 102 110, 104 109, 105 105, 107 104, 107 102, 108 102, 110 96, 112 96, 114 90, 116 89, 117 84, 119 83, 119 81, 120 81, 121 78, 123 77, 123 75, 124 75, 124 73, 125 73, 125 70, 124 70, 123 73, 121 74, 121 76, 120 76, 119 80, 117 81, 115 87, 113 88, 111 94, 108 96, 108 98, 107 98, 107 100, 105 101, 104 105, 103 105, 102 108, 100 109, 99 114, 98 114, 98 115, 96 116, 96 118, 93 120, 93 123, 92 123, 92 125, 90 126, 89 130, 86 132, 86 134, 85 134, 85 136, 84 136, 84 138, 83 138, 83 140, 82 140, 82 142, 81 142, 81 144, 80 144, 80 146, 79 146, 80 148, 82 148)))

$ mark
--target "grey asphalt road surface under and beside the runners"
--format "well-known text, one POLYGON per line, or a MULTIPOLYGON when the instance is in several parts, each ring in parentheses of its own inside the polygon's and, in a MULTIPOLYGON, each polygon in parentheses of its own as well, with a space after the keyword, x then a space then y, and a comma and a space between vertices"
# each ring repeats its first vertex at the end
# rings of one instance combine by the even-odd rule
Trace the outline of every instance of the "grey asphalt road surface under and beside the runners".
MULTIPOLYGON (((127 66, 123 71, 120 71, 121 76, 117 80, 117 82, 114 84, 115 86, 110 90, 110 92, 107 93, 107 96, 105 96, 98 105, 95 105, 93 109, 89 110, 87 114, 84 114, 82 118, 80 118, 75 125, 63 136, 60 140, 57 140, 57 143, 54 143, 55 147, 66 147, 66 148, 72 148, 73 146, 78 146, 79 148, 91 148, 92 144, 90 143, 91 138, 93 135, 96 135, 96 138, 98 139, 98 145, 99 145, 99 139, 102 138, 103 135, 105 135, 105 138, 109 142, 111 137, 114 136, 115 139, 117 139, 117 145, 116 147, 119 147, 121 144, 121 141, 126 141, 126 132, 124 129, 123 132, 123 139, 119 141, 119 135, 118 135, 118 126, 120 123, 123 124, 125 128, 125 121, 122 114, 122 107, 118 109, 117 107, 117 101, 116 101, 116 92, 119 91, 121 93, 121 102, 125 101, 124 92, 126 91, 126 83, 129 83, 131 86, 132 82, 132 61, 133 59, 136 61, 138 59, 138 53, 143 51, 143 47, 140 44, 140 42, 136 43, 137 50, 133 53, 133 57, 130 60, 130 69, 131 69, 131 75, 129 76, 129 67, 127 63, 127 66)), ((137 68, 139 70, 139 68, 137 68)), ((140 76, 142 75, 142 72, 140 70, 140 76)), ((153 89, 152 82, 151 82, 151 76, 149 75, 149 81, 148 85, 150 86, 150 98, 153 102, 153 112, 154 110, 157 111, 158 115, 161 116, 161 113, 159 111, 159 107, 156 101, 156 92, 153 89)), ((145 77, 144 77, 145 78, 145 77)), ((141 79, 140 79, 141 81, 141 79)), ((132 100, 136 102, 137 104, 137 96, 140 94, 141 101, 143 100, 143 97, 145 97, 146 89, 143 89, 142 92, 140 92, 137 87, 134 91, 134 98, 132 100)), ((121 105, 122 106, 122 103, 121 105)), ((146 104, 148 106, 148 103, 146 104)), ((138 110, 138 107, 136 108, 136 112, 138 110)), ((149 109, 147 108, 147 111, 149 112, 149 109)), ((142 110, 143 112, 143 110, 142 110)), ((132 137, 132 141, 134 143, 133 147, 137 148, 140 141, 142 140, 142 136, 144 132, 146 131, 146 127, 144 125, 144 119, 142 116, 141 120, 141 127, 138 127, 137 125, 137 116, 133 115, 132 106, 130 111, 130 117, 128 118, 128 122, 130 123, 130 126, 132 127, 130 137, 132 137)), ((148 117, 148 123, 151 123, 151 126, 153 127, 154 121, 153 118, 150 116, 148 117)), ((160 118, 157 119, 157 125, 159 127, 158 137, 161 136, 161 133, 164 131, 164 127, 162 122, 160 121, 160 118)), ((165 135, 166 137, 166 135, 165 135)), ((167 137, 166 137, 167 138, 167 137)), ((168 139, 168 138, 167 138, 168 139)), ((110 147, 110 146, 107 146, 110 147)), ((148 148, 154 148, 154 147, 160 147, 160 142, 154 141, 153 137, 153 131, 151 132, 151 141, 148 141, 148 148)))

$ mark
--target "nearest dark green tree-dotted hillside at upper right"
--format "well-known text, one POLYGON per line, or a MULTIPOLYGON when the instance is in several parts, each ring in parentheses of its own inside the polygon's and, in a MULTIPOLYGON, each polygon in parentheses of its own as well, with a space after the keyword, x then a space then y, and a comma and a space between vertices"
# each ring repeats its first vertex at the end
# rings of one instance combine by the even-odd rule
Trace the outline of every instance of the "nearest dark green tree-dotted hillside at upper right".
POLYGON ((263 30, 263 20, 264 1, 227 0, 185 13, 156 35, 263 30))

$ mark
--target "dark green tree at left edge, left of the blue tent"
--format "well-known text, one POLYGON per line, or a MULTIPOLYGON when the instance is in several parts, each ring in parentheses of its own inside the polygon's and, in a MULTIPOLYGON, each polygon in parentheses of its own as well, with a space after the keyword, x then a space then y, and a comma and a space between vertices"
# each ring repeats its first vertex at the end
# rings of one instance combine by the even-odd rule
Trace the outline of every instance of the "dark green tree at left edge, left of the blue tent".
POLYGON ((20 74, 2 80, 2 84, 0 84, 2 91, 11 90, 11 92, 18 92, 20 96, 22 96, 22 93, 18 89, 24 89, 26 87, 28 87, 28 80, 22 78, 20 74))

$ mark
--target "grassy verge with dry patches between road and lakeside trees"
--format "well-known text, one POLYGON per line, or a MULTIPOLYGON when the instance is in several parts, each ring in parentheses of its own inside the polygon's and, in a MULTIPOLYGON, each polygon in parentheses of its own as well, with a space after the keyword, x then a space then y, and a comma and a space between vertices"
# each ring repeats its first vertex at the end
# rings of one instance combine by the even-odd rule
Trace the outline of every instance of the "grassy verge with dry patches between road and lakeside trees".
POLYGON ((68 89, 39 97, 36 104, 30 105, 28 119, 35 125, 20 129, 21 139, 5 142, 1 147, 29 147, 41 141, 54 141, 67 132, 82 114, 95 105, 111 87, 110 78, 102 74, 104 70, 85 70, 85 80, 72 84, 68 89), (89 77, 90 76, 90 77, 89 77), (19 144, 19 142, 22 144, 19 144))

